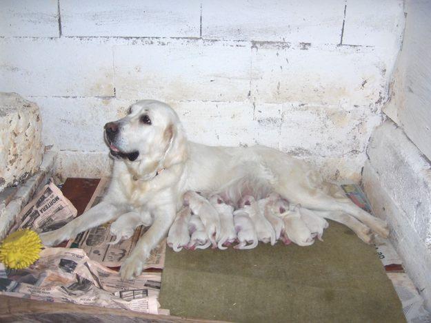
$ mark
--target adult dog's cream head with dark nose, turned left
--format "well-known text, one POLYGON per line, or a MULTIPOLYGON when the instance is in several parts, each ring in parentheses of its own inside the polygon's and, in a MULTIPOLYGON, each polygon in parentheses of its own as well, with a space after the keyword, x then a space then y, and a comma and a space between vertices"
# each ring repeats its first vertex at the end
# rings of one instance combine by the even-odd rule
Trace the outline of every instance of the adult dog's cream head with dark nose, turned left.
POLYGON ((130 106, 127 116, 107 123, 105 140, 114 158, 145 161, 154 167, 159 162, 163 167, 173 165, 186 149, 177 114, 166 103, 153 100, 138 101, 130 106))

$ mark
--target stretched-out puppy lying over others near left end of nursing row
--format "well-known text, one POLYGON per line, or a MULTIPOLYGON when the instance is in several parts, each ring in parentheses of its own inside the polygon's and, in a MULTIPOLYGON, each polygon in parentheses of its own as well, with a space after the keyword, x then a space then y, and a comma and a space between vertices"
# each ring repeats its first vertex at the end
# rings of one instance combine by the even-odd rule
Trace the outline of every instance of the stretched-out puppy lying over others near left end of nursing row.
POLYGON ((200 196, 194 191, 187 191, 183 196, 184 204, 189 205, 194 214, 197 214, 203 225, 205 226, 206 233, 210 241, 212 242, 212 247, 217 247, 217 241, 219 240, 220 233, 220 218, 219 213, 210 202, 203 196, 200 196))

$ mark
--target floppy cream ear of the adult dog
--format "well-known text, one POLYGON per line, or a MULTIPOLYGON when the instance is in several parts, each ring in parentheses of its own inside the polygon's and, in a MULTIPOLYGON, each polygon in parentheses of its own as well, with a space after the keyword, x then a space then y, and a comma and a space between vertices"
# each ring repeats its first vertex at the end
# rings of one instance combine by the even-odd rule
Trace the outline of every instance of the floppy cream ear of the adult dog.
POLYGON ((187 139, 181 125, 171 123, 163 133, 163 139, 168 143, 163 168, 169 168, 178 163, 183 163, 187 158, 187 139))

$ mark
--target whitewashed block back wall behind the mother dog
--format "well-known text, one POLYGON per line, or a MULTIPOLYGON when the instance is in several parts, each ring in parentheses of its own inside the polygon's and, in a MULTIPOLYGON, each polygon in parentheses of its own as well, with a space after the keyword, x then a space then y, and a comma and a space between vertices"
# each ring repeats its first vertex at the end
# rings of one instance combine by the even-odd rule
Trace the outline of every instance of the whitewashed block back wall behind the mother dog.
POLYGON ((191 140, 358 180, 404 26, 403 1, 375 2, 5 0, 0 91, 38 103, 65 174, 97 176, 103 124, 154 98, 191 140))

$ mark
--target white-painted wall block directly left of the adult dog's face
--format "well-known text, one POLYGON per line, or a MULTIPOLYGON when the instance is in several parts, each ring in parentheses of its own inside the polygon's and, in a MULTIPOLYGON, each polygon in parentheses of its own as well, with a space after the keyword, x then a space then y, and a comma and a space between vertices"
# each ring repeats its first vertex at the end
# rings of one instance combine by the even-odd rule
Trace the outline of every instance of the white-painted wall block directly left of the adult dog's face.
POLYGON ((32 98, 41 109, 45 145, 60 150, 107 152, 103 125, 122 118, 130 101, 114 98, 32 98))

